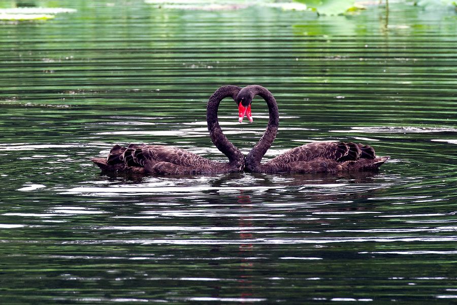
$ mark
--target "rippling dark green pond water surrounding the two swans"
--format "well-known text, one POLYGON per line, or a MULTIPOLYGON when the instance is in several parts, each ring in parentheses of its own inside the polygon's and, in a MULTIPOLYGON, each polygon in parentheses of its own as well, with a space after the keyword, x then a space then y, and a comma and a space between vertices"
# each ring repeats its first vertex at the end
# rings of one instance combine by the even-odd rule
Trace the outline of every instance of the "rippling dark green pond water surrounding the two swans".
MULTIPOLYGON (((455 302, 455 12, 128 4, 0 21, 3 304, 455 302), (89 161, 129 142, 224 160, 207 99, 253 83, 281 113, 267 159, 341 139, 392 160, 371 174, 141 179, 89 161)), ((234 102, 219 109, 245 153, 267 123, 261 100, 253 115, 239 125, 234 102)))

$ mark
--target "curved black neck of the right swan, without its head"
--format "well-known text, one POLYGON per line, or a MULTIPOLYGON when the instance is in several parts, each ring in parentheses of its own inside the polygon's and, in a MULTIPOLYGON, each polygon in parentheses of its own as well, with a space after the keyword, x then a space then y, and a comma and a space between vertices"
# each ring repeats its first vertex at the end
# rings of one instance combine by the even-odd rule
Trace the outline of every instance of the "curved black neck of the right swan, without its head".
POLYGON ((254 148, 249 151, 249 154, 246 156, 245 169, 250 172, 261 171, 262 165, 260 161, 264 157, 267 150, 270 148, 271 144, 276 138, 276 133, 278 132, 279 126, 279 111, 276 100, 271 94, 271 92, 262 86, 252 85, 243 88, 242 90, 249 90, 252 98, 256 95, 262 97, 268 105, 269 120, 267 129, 265 130, 264 135, 260 140, 255 144, 254 148))

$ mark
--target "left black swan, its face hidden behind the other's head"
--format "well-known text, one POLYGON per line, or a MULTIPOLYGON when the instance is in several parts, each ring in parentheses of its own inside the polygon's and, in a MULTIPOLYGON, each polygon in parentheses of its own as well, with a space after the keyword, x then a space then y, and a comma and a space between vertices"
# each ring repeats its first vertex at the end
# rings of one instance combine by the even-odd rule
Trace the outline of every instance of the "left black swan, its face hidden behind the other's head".
POLYGON ((206 120, 211 140, 228 157, 227 163, 215 162, 189 151, 163 145, 130 144, 114 145, 107 158, 92 158, 102 170, 134 174, 199 174, 239 172, 244 167, 244 155, 222 133, 217 109, 222 99, 235 100, 241 87, 222 86, 209 98, 206 120))

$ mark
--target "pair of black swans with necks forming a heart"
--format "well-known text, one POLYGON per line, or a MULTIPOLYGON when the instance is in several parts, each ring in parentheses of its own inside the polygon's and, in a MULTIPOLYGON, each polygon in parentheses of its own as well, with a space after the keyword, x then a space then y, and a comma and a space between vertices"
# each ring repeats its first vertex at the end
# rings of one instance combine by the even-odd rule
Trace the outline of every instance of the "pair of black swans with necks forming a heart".
POLYGON ((272 160, 260 161, 275 140, 279 125, 276 100, 270 91, 259 85, 245 88, 222 86, 210 97, 206 120, 211 140, 228 157, 227 163, 215 162, 189 151, 163 145, 130 144, 127 147, 114 145, 108 158, 92 158, 104 171, 137 174, 211 174, 239 172, 350 172, 375 170, 389 157, 376 157, 369 145, 352 142, 312 142, 292 148, 272 160), (222 133, 217 118, 217 109, 222 99, 232 97, 239 110, 239 121, 246 115, 252 122, 251 103, 254 96, 262 97, 268 105, 270 119, 267 130, 244 157, 222 133))

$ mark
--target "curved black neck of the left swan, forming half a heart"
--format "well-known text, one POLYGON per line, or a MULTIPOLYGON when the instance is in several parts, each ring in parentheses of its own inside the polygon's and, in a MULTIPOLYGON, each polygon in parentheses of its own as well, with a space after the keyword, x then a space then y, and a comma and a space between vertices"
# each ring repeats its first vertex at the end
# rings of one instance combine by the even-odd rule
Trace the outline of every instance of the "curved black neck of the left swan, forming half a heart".
POLYGON ((223 134, 222 129, 219 126, 219 120, 217 118, 217 109, 222 99, 232 97, 236 99, 241 87, 238 86, 222 86, 213 93, 209 98, 206 107, 206 121, 208 123, 208 130, 210 132, 211 141, 214 145, 228 157, 230 163, 243 162, 244 155, 241 151, 230 142, 227 137, 223 134))

